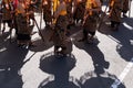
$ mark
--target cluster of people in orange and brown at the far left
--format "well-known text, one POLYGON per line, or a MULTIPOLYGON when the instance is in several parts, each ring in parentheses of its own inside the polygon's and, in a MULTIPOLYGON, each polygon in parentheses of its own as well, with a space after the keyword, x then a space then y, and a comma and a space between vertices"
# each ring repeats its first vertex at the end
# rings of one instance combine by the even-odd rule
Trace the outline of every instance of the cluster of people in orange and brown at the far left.
POLYGON ((35 1, 30 0, 2 0, 1 1, 1 23, 3 28, 0 28, 2 34, 6 30, 6 23, 9 26, 11 34, 12 29, 16 30, 17 43, 21 45, 32 45, 31 32, 34 21, 33 7, 35 1))

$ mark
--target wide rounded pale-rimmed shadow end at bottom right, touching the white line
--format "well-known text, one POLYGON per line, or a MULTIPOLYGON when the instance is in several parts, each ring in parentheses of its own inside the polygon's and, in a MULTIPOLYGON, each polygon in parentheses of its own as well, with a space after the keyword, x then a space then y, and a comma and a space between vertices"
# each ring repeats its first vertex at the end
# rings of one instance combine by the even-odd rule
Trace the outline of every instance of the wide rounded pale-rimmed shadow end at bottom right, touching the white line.
POLYGON ((114 86, 115 80, 119 80, 115 75, 111 75, 108 72, 99 75, 93 70, 85 73, 80 78, 82 84, 81 88, 126 88, 122 82, 114 86))

